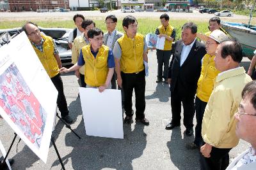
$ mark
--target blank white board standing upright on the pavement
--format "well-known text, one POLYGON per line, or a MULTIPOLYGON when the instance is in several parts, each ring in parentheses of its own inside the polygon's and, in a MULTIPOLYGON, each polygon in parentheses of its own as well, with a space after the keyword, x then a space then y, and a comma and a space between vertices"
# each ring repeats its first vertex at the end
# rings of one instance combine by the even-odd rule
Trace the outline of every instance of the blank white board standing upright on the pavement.
POLYGON ((84 127, 89 136, 124 139, 121 90, 79 88, 84 127))

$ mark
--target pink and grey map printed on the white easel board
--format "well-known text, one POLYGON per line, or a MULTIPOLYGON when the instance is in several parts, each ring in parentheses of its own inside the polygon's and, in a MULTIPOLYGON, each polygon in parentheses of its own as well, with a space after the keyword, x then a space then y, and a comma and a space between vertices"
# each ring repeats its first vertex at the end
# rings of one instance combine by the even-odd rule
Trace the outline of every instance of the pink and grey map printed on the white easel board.
POLYGON ((1 108, 29 141, 40 148, 47 113, 15 64, 0 75, 0 89, 1 108))

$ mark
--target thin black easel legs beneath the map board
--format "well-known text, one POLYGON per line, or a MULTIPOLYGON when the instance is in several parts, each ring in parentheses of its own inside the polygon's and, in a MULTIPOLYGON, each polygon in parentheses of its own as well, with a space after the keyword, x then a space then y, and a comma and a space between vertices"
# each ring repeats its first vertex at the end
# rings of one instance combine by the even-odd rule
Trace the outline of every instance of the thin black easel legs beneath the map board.
MULTIPOLYGON (((81 139, 81 137, 80 137, 75 131, 73 131, 73 129, 71 129, 70 125, 68 125, 67 122, 65 122, 65 121, 58 115, 58 113, 56 113, 56 116, 57 116, 58 118, 60 118, 61 122, 63 122, 63 123, 66 125, 66 127, 67 127, 68 129, 70 129, 70 131, 72 131, 72 132, 77 136, 77 138, 81 139)), ((5 163, 7 157, 8 157, 8 155, 9 155, 9 153, 10 153, 10 150, 11 150, 11 148, 12 148, 12 146, 13 146, 13 143, 14 143, 15 139, 17 138, 17 134, 16 134, 16 133, 14 133, 14 134, 15 134, 15 136, 14 136, 14 138, 13 138, 13 140, 12 140, 12 144, 11 144, 10 148, 8 149, 8 152, 6 153, 6 156, 4 157, 3 164, 1 164, 0 169, 3 169, 4 163, 5 163)), ((53 137, 53 136, 51 136, 51 141, 52 141, 52 145, 54 146, 54 150, 55 150, 55 152, 57 153, 57 156, 58 156, 58 159, 59 159, 59 161, 60 161, 61 167, 62 167, 62 169, 65 170, 64 164, 63 164, 63 162, 62 162, 62 160, 61 160, 61 157, 60 157, 60 153, 58 152, 57 146, 55 145, 54 137, 53 137)))

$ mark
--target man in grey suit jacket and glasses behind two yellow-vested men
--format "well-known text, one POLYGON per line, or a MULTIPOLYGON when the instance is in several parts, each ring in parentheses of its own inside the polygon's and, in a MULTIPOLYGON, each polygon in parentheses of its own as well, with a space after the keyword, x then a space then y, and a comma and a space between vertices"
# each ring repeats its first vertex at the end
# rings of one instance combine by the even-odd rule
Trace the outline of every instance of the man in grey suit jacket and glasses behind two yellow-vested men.
MULTIPOLYGON (((116 30, 117 18, 115 15, 108 15, 105 19, 105 24, 108 32, 103 35, 103 44, 108 46, 111 50, 113 50, 116 40, 122 37, 124 34, 116 30)), ((111 89, 116 89, 116 72, 114 71, 114 75, 111 80, 111 89)))

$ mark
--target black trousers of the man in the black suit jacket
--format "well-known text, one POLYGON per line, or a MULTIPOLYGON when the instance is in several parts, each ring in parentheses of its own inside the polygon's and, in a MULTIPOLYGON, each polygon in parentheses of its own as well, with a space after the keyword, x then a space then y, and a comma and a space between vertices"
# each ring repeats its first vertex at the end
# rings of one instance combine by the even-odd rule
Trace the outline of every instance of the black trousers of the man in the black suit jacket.
MULTIPOLYGON (((177 83, 178 84, 178 83, 177 83)), ((195 95, 190 94, 186 95, 182 93, 182 90, 179 89, 176 85, 173 92, 171 92, 171 106, 172 106, 172 124, 180 125, 180 113, 181 113, 181 103, 183 106, 183 124, 186 129, 193 128, 193 118, 195 115, 195 95)))

